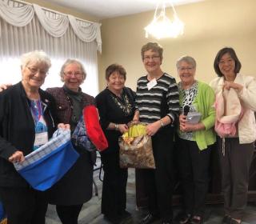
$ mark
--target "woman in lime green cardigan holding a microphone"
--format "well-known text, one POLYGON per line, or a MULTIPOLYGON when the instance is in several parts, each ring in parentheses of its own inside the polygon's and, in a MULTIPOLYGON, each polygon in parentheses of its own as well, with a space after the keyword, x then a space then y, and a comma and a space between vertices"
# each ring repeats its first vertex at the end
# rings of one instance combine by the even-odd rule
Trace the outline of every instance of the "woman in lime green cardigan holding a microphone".
POLYGON ((183 210, 177 219, 180 224, 203 223, 210 178, 210 151, 216 141, 214 90, 195 79, 194 58, 183 56, 176 66, 181 79, 178 82, 181 113, 176 151, 183 194, 183 210))

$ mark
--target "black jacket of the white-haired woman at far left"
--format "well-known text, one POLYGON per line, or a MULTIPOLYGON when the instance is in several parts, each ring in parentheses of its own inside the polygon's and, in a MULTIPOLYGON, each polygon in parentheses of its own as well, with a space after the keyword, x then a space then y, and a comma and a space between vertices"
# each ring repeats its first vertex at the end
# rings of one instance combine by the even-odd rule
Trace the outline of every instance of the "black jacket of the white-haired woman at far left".
MULTIPOLYGON (((43 117, 51 138, 56 127, 54 98, 39 89, 43 104, 43 117)), ((14 169, 8 158, 15 151, 30 154, 34 146, 34 119, 30 112, 30 100, 22 82, 0 93, 0 186, 29 186, 14 169)))

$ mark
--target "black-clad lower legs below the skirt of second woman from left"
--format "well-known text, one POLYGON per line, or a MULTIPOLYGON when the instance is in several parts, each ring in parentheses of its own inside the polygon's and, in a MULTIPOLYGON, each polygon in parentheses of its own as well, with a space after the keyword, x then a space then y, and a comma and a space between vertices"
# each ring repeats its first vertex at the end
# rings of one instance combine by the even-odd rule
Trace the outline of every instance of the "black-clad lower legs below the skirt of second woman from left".
POLYGON ((82 205, 56 206, 58 218, 62 224, 78 224, 78 216, 81 209, 82 205))

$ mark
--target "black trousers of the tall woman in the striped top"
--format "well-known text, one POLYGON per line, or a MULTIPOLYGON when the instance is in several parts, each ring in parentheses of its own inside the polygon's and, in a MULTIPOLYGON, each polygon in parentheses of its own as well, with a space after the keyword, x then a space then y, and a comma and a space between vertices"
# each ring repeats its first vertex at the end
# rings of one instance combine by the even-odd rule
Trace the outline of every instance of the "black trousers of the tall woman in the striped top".
POLYGON ((146 194, 149 196, 150 214, 160 215, 162 220, 173 218, 172 195, 173 172, 173 130, 163 128, 152 137, 155 170, 141 170, 145 178, 146 194))

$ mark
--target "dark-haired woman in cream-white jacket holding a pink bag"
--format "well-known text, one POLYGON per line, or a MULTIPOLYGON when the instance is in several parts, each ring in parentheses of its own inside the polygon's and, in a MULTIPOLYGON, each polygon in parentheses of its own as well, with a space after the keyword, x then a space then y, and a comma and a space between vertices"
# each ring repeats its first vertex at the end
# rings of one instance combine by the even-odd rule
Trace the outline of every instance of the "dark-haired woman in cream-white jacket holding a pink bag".
MULTIPOLYGON (((225 210, 222 223, 231 224, 241 223, 246 207, 250 163, 256 139, 256 81, 253 77, 238 74, 240 69, 241 63, 235 51, 225 47, 218 51, 214 60, 214 70, 218 78, 210 82, 216 96, 221 95, 224 98, 224 105, 215 106, 227 109, 225 102, 228 101, 230 90, 236 93, 232 94, 232 98, 238 98, 241 106, 240 116, 235 123, 235 134, 218 138, 225 210)), ((224 110, 223 116, 230 116, 229 110, 224 110)))

